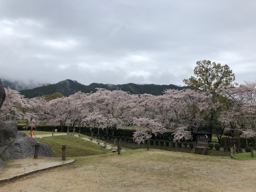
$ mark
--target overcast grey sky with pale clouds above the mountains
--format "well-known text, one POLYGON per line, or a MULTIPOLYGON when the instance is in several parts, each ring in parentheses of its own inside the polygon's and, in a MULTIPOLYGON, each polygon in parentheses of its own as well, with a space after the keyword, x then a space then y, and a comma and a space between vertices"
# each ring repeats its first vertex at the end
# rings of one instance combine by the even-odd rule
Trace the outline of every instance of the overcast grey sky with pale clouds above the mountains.
POLYGON ((0 0, 0 78, 184 85, 204 59, 256 79, 255 0, 0 0))

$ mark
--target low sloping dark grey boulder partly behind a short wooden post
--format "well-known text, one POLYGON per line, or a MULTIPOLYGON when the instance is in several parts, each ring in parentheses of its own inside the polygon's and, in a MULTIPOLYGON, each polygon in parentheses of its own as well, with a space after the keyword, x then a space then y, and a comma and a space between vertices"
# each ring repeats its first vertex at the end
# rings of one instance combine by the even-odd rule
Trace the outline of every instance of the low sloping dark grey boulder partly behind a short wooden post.
MULTIPOLYGON (((15 140, 0 154, 0 157, 5 160, 8 158, 23 159, 34 156, 36 143, 36 140, 27 136, 24 132, 18 131, 15 140)), ((38 156, 54 157, 54 153, 48 145, 40 143, 38 156)))

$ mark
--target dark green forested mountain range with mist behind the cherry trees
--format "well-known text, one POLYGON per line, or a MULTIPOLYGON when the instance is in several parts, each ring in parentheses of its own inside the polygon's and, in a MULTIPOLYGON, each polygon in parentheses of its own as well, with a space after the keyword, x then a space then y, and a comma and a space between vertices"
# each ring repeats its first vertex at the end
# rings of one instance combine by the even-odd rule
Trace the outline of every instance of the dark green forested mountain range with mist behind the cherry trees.
MULTIPOLYGON (((4 87, 10 86, 12 89, 16 89, 13 85, 8 85, 6 82, 2 81, 4 87)), ((14 84, 15 85, 15 84, 14 84)), ((184 88, 188 88, 186 86, 176 86, 173 84, 170 85, 156 85, 156 84, 100 84, 100 83, 92 83, 88 86, 83 85, 75 80, 66 79, 64 81, 60 81, 56 84, 48 84, 40 87, 19 90, 19 92, 25 96, 25 98, 33 98, 37 96, 43 95, 51 95, 56 92, 62 93, 64 96, 70 96, 78 91, 82 91, 84 93, 96 92, 96 88, 105 88, 107 90, 123 90, 126 92, 130 92, 130 94, 152 94, 152 95, 162 95, 163 90, 165 89, 178 89, 182 90, 184 88)))

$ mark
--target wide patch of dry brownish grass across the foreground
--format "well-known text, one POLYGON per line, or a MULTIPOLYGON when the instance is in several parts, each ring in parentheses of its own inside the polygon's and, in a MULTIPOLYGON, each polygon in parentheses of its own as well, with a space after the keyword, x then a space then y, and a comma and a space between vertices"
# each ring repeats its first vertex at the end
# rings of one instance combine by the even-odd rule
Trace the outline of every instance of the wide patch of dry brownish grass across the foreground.
POLYGON ((3 184, 0 191, 250 192, 256 161, 163 150, 76 158, 71 165, 3 184))

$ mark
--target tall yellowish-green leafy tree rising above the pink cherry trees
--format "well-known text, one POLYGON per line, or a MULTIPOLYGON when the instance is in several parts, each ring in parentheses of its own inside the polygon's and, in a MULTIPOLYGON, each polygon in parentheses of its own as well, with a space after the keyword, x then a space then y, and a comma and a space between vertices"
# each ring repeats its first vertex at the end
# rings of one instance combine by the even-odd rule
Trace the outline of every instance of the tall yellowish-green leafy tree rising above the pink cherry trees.
POLYGON ((210 109, 209 116, 207 116, 208 131, 216 133, 220 141, 224 127, 218 121, 218 117, 223 107, 228 104, 228 100, 220 94, 220 90, 235 85, 235 74, 228 65, 221 65, 210 60, 197 61, 194 74, 195 76, 184 79, 183 82, 192 89, 200 91, 208 90, 211 92, 213 105, 210 109))

